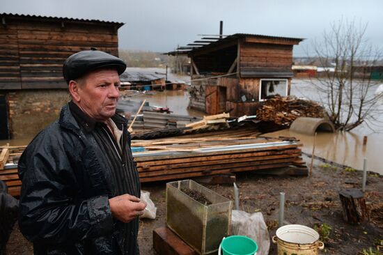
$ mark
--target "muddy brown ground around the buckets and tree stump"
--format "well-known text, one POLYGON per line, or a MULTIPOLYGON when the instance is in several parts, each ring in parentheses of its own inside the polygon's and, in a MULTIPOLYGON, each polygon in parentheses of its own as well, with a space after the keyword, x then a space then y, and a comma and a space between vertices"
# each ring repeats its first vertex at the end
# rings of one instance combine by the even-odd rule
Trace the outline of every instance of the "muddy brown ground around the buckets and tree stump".
MULTIPOLYGON (((310 159, 304 160, 309 164, 310 159)), ((269 235, 278 226, 279 192, 286 193, 286 224, 322 225, 325 250, 321 254, 362 254, 363 249, 377 249, 383 240, 383 177, 368 175, 365 198, 370 209, 370 221, 353 226, 343 222, 338 191, 361 187, 362 174, 354 169, 343 169, 315 160, 311 177, 259 176, 255 173, 237 175, 240 187, 240 208, 247 212, 263 212, 269 235), (331 229, 330 229, 331 228, 331 229)), ((140 220, 139 245, 141 254, 155 254, 153 229, 165 225, 166 183, 143 184, 157 206, 156 219, 140 220)), ((233 187, 205 185, 228 199, 233 199, 233 187)), ((382 247, 380 247, 382 251, 382 247)), ((13 231, 7 245, 8 254, 33 254, 31 244, 13 231)), ((276 245, 270 245, 269 254, 276 254, 276 245)))

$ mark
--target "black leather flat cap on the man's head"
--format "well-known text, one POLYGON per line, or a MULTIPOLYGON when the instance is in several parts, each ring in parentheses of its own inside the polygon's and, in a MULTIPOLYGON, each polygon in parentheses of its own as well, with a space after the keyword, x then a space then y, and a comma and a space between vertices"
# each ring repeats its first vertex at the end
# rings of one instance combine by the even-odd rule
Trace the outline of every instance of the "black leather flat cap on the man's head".
POLYGON ((121 75, 126 69, 126 64, 122 59, 100 50, 84 50, 71 55, 65 60, 63 75, 65 81, 69 84, 70 80, 77 79, 92 70, 100 68, 113 68, 117 70, 118 75, 121 75))

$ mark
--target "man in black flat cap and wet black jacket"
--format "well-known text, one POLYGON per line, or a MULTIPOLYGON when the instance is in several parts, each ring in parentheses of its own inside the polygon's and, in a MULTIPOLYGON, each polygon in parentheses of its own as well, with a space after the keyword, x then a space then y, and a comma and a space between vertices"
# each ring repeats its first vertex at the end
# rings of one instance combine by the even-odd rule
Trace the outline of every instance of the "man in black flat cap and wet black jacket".
POLYGON ((146 204, 127 120, 116 114, 125 68, 97 50, 63 65, 72 100, 19 160, 19 227, 35 254, 139 254, 146 204))

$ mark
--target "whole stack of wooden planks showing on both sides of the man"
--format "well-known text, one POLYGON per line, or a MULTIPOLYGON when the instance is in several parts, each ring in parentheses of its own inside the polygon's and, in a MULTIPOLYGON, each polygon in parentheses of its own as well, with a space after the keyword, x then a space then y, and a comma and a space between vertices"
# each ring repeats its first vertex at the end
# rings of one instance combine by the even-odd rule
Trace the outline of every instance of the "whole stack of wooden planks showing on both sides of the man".
MULTIPOLYGON (((165 139, 133 140, 133 148, 145 148, 133 156, 142 183, 242 171, 297 169, 299 174, 307 172, 299 148, 301 144, 297 140, 259 135, 253 127, 245 127, 165 139)), ((1 155, 8 155, 6 165, 0 169, 0 180, 8 185, 8 192, 13 196, 18 196, 21 188, 17 160, 25 147, 0 147, 1 155)))

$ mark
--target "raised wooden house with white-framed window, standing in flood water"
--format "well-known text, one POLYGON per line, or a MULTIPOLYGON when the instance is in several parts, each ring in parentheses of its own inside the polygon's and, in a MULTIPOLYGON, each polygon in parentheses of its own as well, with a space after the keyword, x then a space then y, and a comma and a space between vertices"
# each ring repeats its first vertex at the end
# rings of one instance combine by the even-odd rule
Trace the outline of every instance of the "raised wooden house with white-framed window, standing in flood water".
POLYGON ((192 61, 190 107, 207 114, 253 115, 260 101, 289 95, 292 47, 302 40, 246 33, 206 36, 168 54, 192 61))

